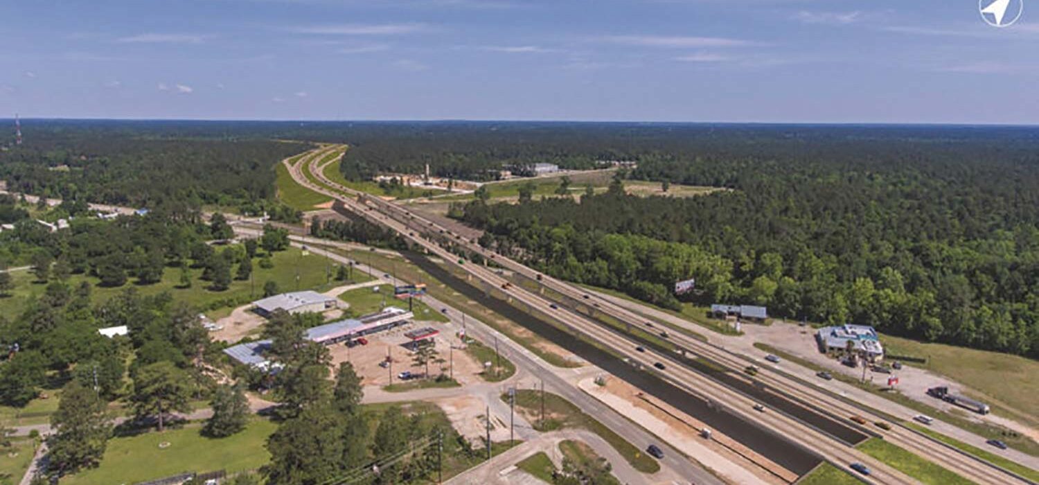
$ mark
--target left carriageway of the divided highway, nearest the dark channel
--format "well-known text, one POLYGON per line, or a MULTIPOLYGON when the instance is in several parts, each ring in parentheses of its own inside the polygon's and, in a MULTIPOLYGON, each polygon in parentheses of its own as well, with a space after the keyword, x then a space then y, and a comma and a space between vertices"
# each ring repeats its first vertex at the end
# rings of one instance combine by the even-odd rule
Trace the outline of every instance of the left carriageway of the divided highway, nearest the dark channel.
MULTIPOLYGON (((340 200, 349 210, 376 223, 385 225, 396 231, 402 237, 407 238, 414 243, 425 248, 429 251, 429 253, 442 258, 445 262, 451 264, 455 263, 458 259, 455 254, 452 254, 448 250, 444 249, 439 246, 439 244, 422 237, 422 233, 429 231, 430 228, 433 231, 439 231, 431 222, 418 218, 406 210, 393 204, 352 190, 348 187, 344 187, 325 178, 323 173, 321 173, 323 166, 317 167, 312 163, 325 155, 325 153, 322 153, 321 150, 322 149, 316 151, 313 156, 301 157, 297 160, 297 163, 290 167, 290 173, 297 183, 310 188, 311 190, 340 200), (310 177, 304 174, 304 169, 309 171, 310 177, 319 181, 320 184, 314 183, 310 177), (355 197, 364 199, 365 203, 358 201, 355 197), (374 203, 374 205, 370 205, 372 203, 374 203), (376 211, 375 209, 379 209, 379 211, 376 211), (383 213, 382 211, 387 211, 387 213, 383 213), (403 221, 398 220, 393 216, 401 217, 403 221)), ((456 241, 456 243, 471 247, 471 243, 469 241, 456 241)), ((482 248, 478 247, 472 250, 485 253, 482 248)), ((486 257, 489 258, 489 254, 486 257)), ((507 262, 504 258, 496 257, 495 261, 507 268, 511 266, 509 269, 515 270, 522 268, 523 271, 533 271, 529 268, 522 267, 522 265, 518 265, 517 263, 507 262)), ((566 327, 572 329, 576 333, 583 334, 587 339, 609 347, 615 353, 627 357, 633 365, 637 365, 648 370, 654 369, 654 365, 657 362, 670 361, 669 356, 664 355, 663 352, 655 349, 646 349, 645 352, 636 351, 635 348, 640 345, 639 342, 632 340, 628 335, 619 334, 619 332, 615 330, 604 328, 601 324, 590 321, 583 316, 557 309, 554 307, 556 305, 552 301, 523 288, 512 287, 511 281, 496 274, 492 270, 479 265, 464 263, 458 264, 458 267, 463 269, 467 273, 469 273, 469 275, 475 277, 489 289, 508 288, 506 293, 510 299, 514 299, 516 302, 526 305, 532 312, 536 311, 559 323, 562 323, 566 327)), ((849 470, 849 473, 853 475, 857 473, 849 468, 850 463, 858 462, 865 464, 873 470, 872 475, 865 479, 871 483, 916 483, 915 480, 888 466, 887 464, 882 463, 879 460, 851 448, 847 443, 835 439, 829 434, 822 433, 816 428, 810 427, 798 420, 780 412, 761 413, 754 411, 753 405, 756 403, 752 399, 741 394, 734 393, 731 389, 723 386, 714 379, 710 379, 692 370, 682 366, 673 366, 665 372, 660 372, 659 375, 664 380, 670 382, 678 388, 682 388, 693 396, 700 397, 701 399, 710 400, 724 407, 731 414, 735 414, 743 420, 757 423, 761 427, 771 431, 772 433, 778 436, 783 436, 794 446, 808 450, 830 463, 849 470)))

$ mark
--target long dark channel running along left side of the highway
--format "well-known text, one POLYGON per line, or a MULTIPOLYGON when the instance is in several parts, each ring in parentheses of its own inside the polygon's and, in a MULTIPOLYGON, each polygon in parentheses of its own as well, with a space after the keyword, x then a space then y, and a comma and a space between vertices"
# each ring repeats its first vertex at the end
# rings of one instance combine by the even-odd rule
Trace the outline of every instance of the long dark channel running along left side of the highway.
POLYGON ((640 390, 681 409, 683 412, 701 421, 708 427, 742 442, 797 475, 808 473, 821 462, 821 459, 808 450, 802 449, 796 443, 783 439, 781 436, 777 436, 751 423, 747 423, 724 409, 715 407, 708 401, 691 396, 689 393, 649 373, 640 371, 590 343, 578 339, 574 334, 567 333, 556 326, 550 325, 530 314, 524 313, 503 300, 486 296, 483 290, 471 286, 439 265, 430 262, 422 254, 414 252, 404 252, 403 254, 412 264, 429 273, 430 276, 443 281, 467 298, 478 301, 481 305, 581 356, 610 374, 638 387, 640 390))

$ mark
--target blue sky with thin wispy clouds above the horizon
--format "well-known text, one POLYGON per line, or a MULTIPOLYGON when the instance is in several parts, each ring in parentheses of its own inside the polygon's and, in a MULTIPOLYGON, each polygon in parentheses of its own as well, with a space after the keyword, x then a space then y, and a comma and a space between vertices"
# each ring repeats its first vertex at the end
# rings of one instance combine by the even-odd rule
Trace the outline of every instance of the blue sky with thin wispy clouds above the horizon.
POLYGON ((1016 1, 4 0, 0 117, 1039 124, 1016 1))

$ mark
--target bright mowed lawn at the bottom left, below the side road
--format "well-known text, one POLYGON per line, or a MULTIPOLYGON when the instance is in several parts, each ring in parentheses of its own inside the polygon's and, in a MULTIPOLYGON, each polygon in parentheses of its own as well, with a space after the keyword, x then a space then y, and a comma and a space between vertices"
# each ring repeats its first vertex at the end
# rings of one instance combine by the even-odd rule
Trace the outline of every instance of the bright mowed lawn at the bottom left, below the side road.
POLYGON ((228 473, 257 468, 270 460, 264 448, 277 425, 254 419, 242 432, 227 438, 208 438, 202 424, 192 423, 163 433, 112 438, 101 465, 61 480, 62 485, 122 484, 159 479, 185 471, 228 473), (160 449, 159 443, 169 442, 160 449))

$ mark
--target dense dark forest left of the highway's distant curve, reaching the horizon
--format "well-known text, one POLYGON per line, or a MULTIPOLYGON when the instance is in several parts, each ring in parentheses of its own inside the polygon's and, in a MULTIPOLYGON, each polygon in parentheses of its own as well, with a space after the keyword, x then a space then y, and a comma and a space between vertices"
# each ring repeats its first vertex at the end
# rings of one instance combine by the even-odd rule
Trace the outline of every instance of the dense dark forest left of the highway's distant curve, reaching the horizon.
POLYGON ((272 167, 307 149, 219 132, 180 137, 145 122, 30 120, 24 131, 24 144, 0 152, 7 190, 129 207, 278 212, 272 167))

